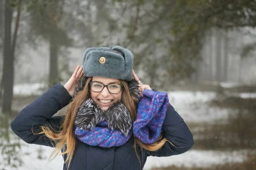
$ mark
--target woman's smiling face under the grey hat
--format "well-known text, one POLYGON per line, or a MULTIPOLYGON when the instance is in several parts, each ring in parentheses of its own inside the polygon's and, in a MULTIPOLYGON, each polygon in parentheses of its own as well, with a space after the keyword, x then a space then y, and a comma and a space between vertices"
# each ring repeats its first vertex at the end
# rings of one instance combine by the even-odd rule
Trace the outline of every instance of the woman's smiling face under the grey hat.
POLYGON ((95 82, 92 84, 90 88, 91 98, 93 99, 94 102, 96 102, 97 105, 99 105, 102 111, 107 111, 108 108, 111 105, 113 105, 113 103, 121 99, 122 90, 120 90, 118 94, 111 94, 108 91, 107 87, 103 88, 103 85, 102 85, 102 84, 109 85, 109 90, 112 93, 116 92, 119 89, 119 85, 117 85, 117 84, 120 84, 119 79, 106 78, 106 77, 93 77, 91 82, 95 82), (95 91, 100 91, 102 88, 103 90, 101 92, 95 92, 95 91))

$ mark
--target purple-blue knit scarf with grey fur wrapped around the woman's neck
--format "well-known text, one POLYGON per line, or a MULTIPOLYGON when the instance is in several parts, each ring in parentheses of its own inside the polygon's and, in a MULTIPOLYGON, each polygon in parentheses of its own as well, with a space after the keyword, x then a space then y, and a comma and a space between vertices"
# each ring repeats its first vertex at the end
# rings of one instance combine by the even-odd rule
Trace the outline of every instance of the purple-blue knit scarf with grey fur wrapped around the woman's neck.
POLYGON ((119 101, 104 112, 93 99, 86 99, 78 109, 75 126, 81 142, 100 147, 121 146, 132 134, 131 115, 119 101))

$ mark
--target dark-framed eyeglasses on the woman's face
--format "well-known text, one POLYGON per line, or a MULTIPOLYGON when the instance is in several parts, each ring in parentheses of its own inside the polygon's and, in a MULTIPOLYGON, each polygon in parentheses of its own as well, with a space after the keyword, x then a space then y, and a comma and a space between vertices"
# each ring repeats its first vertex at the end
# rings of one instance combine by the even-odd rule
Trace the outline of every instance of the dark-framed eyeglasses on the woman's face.
POLYGON ((101 82, 89 82, 89 83, 90 83, 90 88, 93 92, 101 92, 105 87, 107 87, 109 93, 119 94, 122 89, 122 85, 117 83, 113 83, 109 85, 104 85, 101 82))

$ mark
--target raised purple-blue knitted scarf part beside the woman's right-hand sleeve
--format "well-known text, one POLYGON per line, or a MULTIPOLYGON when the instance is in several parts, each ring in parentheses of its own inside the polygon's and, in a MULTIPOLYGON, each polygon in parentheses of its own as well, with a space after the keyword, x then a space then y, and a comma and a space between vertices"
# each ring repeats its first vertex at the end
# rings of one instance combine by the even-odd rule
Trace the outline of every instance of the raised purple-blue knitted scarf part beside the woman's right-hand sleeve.
POLYGON ((139 102, 137 117, 133 123, 134 135, 145 144, 156 142, 169 105, 165 92, 144 90, 139 102))

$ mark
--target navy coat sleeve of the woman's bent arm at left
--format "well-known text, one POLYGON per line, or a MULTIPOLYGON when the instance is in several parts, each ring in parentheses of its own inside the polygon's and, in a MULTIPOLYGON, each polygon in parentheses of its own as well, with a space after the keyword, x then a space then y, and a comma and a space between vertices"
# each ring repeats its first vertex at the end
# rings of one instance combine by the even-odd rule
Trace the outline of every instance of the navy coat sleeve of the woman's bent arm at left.
POLYGON ((62 116, 53 116, 71 100, 66 88, 58 82, 30 105, 23 108, 11 123, 12 131, 29 144, 40 144, 55 147, 54 142, 44 134, 35 135, 41 125, 50 125, 59 130, 62 116))

